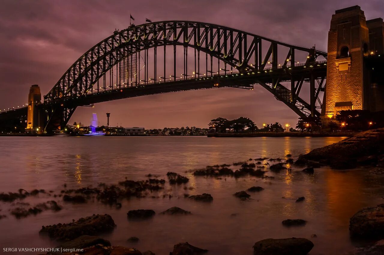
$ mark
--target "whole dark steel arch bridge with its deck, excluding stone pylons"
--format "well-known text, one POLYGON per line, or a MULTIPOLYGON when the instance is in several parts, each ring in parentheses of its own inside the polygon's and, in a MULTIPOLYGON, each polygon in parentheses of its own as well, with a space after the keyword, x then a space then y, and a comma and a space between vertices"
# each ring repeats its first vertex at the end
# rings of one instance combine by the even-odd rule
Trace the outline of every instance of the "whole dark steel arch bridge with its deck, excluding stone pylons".
POLYGON ((253 89, 260 84, 300 117, 319 116, 326 58, 326 52, 314 47, 295 46, 212 23, 159 21, 132 25, 86 51, 38 106, 43 109, 44 129, 49 132, 65 127, 79 106, 184 90, 253 89), (180 48, 182 54, 177 51, 180 48), (188 49, 193 50, 189 56, 188 49), (160 64, 158 55, 163 56, 160 64), (299 59, 304 61, 298 63, 299 59), (183 64, 177 64, 181 61, 183 64), (177 76, 181 67, 182 74, 177 76), (127 68, 136 72, 128 76, 127 68), (305 97, 300 94, 304 83, 310 84, 305 97))

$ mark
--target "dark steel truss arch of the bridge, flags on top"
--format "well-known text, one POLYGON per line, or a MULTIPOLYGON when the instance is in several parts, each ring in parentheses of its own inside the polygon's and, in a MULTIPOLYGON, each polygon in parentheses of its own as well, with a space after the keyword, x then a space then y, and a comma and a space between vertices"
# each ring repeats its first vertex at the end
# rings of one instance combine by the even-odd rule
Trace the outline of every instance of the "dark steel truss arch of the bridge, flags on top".
MULTIPOLYGON (((306 48, 295 46, 281 41, 276 41, 263 36, 248 33, 235 28, 221 26, 212 23, 204 23, 197 21, 159 21, 154 23, 146 23, 139 26, 131 26, 122 31, 116 31, 113 35, 99 42, 86 53, 84 53, 64 74, 61 76, 55 86, 44 96, 44 104, 50 105, 47 112, 47 125, 45 129, 56 129, 65 125, 74 109, 80 106, 80 103, 69 102, 71 99, 85 97, 93 94, 95 84, 107 72, 111 72, 114 66, 124 61, 128 56, 144 51, 147 54, 148 49, 156 49, 158 47, 174 46, 174 58, 176 58, 176 48, 184 47, 184 79, 187 80, 187 67, 185 67, 185 53, 188 48, 206 54, 210 57, 211 68, 206 68, 205 77, 211 78, 213 75, 212 58, 218 59, 218 75, 220 70, 225 74, 233 74, 233 69, 240 74, 256 74, 252 78, 252 84, 260 84, 265 89, 275 95, 278 100, 284 102, 288 107, 294 110, 301 117, 308 115, 319 115, 319 112, 314 108, 314 100, 319 100, 319 91, 323 91, 325 87, 324 74, 316 74, 314 77, 308 71, 293 73, 293 69, 298 65, 295 61, 298 55, 306 57, 305 63, 301 63, 301 67, 314 67, 318 56, 326 59, 327 53, 314 48, 306 48), (281 53, 281 51, 284 51, 281 53), (281 60, 282 57, 283 60, 281 60), (296 57, 296 58, 295 58, 296 57), (280 59, 279 59, 280 58, 280 59), (219 68, 220 61, 224 64, 224 68, 219 68), (280 61, 281 64, 278 64, 280 61), (227 65, 231 70, 227 70, 227 65), (224 69, 224 70, 223 70, 224 69), (270 74, 276 72, 275 77, 264 79, 257 77, 257 74, 270 74), (283 71, 282 71, 283 70, 283 71), (230 71, 230 72, 229 72, 230 71), (267 72, 268 71, 268 72, 267 72), (291 78, 288 78, 288 77, 291 78), (308 82, 311 79, 312 83, 315 79, 318 80, 318 88, 312 89, 311 85, 311 103, 299 96, 303 82, 308 82), (282 82, 291 82, 290 89, 283 86, 282 82), (60 125, 58 123, 60 120, 60 125), (55 123, 53 125, 53 123, 55 123)), ((200 55, 199 55, 200 56, 200 55)), ((156 58, 155 58, 156 59, 156 58)), ((200 61, 200 60, 199 60, 200 61)), ((157 61, 154 61, 157 64, 157 61)), ((174 62, 176 63, 176 62, 174 62)), ((200 62, 199 62, 200 63, 200 62)), ((146 63, 147 65, 148 63, 146 63)), ((322 63, 323 64, 323 63, 322 63)), ((164 57, 164 70, 165 70, 164 57)), ((208 66, 208 64, 206 63, 208 66)), ((139 66, 140 67, 140 66, 139 66)), ((299 66, 300 67, 300 66, 299 66)), ((147 68, 147 67, 146 67, 147 68)), ((140 68, 139 68, 140 69, 140 68)), ((303 68, 301 68, 303 69, 303 68)), ((156 70, 156 67, 155 67, 156 70)), ((176 81, 176 67, 174 67, 173 77, 176 81)), ((155 71, 156 74, 156 71, 155 71)), ((196 70, 195 78, 200 78, 200 71, 196 70), (198 73, 198 75, 196 75, 198 73)), ((117 77, 117 76, 116 76, 117 77)), ((116 78, 117 79, 117 78, 116 78)), ((166 76, 164 73, 164 82, 166 76)), ((154 84, 157 82, 157 76, 154 76, 154 84)), ((148 73, 144 78, 144 85, 148 84, 148 73)), ((310 82, 311 83, 311 82, 310 82)), ((137 81, 135 82, 137 84, 137 81)), ((140 79, 139 79, 140 84, 140 79)), ((112 84, 110 84, 112 85, 112 84)), ((121 84, 120 84, 121 85, 121 84)), ((123 85, 125 87, 125 85, 123 85)), ((132 86, 132 81, 131 81, 132 86)), ((99 88, 97 90, 99 92, 99 88)))

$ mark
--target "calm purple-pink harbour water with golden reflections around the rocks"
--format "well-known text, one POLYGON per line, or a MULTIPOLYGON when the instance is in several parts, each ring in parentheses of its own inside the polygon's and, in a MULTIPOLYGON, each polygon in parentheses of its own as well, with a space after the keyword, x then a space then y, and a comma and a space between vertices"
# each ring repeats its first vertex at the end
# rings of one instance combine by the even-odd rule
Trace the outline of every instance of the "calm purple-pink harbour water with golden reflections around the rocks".
MULTIPOLYGON (((233 163, 249 158, 294 158, 313 148, 341 138, 206 138, 206 137, 0 137, 0 192, 19 188, 53 190, 96 186, 100 182, 117 183, 125 177, 146 179, 148 173, 166 179, 167 171, 190 178, 184 185, 166 185, 154 195, 172 194, 172 198, 132 198, 116 209, 97 201, 87 204, 63 202, 48 194, 28 197, 34 205, 51 199, 63 206, 59 212, 45 211, 37 216, 15 219, 8 210, 14 206, 0 202, 0 253, 5 247, 55 247, 58 243, 38 234, 42 225, 71 222, 92 214, 110 214, 116 229, 100 235, 113 245, 136 247, 168 255, 173 245, 189 242, 210 250, 209 254, 252 254, 255 242, 266 238, 304 237, 314 243, 311 255, 343 254, 356 245, 349 239, 349 218, 362 207, 382 203, 383 180, 369 176, 366 170, 334 171, 316 169, 314 175, 302 168, 291 172, 267 173, 273 180, 259 178, 204 178, 193 176, 191 169, 207 165, 233 163), (249 201, 232 194, 251 186, 264 191, 251 193, 249 201), (212 194, 212 203, 184 198, 183 194, 212 194), (305 196, 296 203, 295 198, 305 196), (283 199, 282 197, 286 197, 283 199), (161 212, 178 206, 190 216, 156 215, 150 220, 132 222, 126 213, 132 209, 161 212), (231 216, 231 214, 237 216, 231 216), (304 227, 286 228, 284 219, 305 219, 304 227), (316 238, 311 238, 316 234, 316 238), (135 244, 127 242, 139 237, 135 244)), ((233 167, 232 167, 233 168, 233 167)), ((233 168, 235 169, 235 168, 233 168)), ((7 253, 12 254, 12 253, 7 253)), ((13 254, 17 254, 13 253, 13 254)))

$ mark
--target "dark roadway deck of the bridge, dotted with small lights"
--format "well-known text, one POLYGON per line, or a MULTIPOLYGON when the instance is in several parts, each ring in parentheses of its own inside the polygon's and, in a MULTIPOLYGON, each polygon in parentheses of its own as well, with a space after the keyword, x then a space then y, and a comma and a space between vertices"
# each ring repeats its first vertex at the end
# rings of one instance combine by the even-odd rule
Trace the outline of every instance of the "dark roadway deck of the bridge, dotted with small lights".
MULTIPOLYGON (((170 92, 187 90, 214 89, 222 87, 234 87, 241 89, 253 89, 254 84, 260 84, 272 91, 276 88, 283 89, 280 83, 290 82, 296 77, 305 77, 309 81, 310 74, 313 72, 315 79, 326 76, 326 61, 318 61, 313 66, 297 64, 295 67, 279 67, 278 69, 265 68, 262 72, 227 72, 227 74, 216 74, 213 76, 190 77, 189 79, 176 79, 152 82, 146 85, 117 87, 114 89, 100 89, 99 92, 89 91, 82 96, 62 97, 55 100, 46 101, 44 104, 61 105, 64 107, 78 107, 83 105, 96 104, 111 100, 154 95, 170 92), (309 71, 309 69, 311 71, 309 71), (218 85, 215 85, 218 84, 218 85)), ((284 86, 283 86, 284 87, 284 86)), ((285 92, 287 90, 284 87, 285 92)), ((290 92, 290 90, 288 91, 290 92)))

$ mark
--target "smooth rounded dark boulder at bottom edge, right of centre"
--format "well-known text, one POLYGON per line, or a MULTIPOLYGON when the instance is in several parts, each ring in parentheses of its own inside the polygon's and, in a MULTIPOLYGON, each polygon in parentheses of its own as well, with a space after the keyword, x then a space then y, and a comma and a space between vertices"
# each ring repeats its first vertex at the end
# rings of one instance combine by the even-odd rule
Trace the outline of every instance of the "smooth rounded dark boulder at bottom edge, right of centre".
POLYGON ((313 243, 305 238, 264 239, 253 245, 254 255, 305 255, 313 243))

